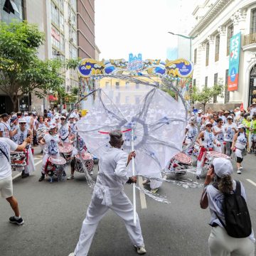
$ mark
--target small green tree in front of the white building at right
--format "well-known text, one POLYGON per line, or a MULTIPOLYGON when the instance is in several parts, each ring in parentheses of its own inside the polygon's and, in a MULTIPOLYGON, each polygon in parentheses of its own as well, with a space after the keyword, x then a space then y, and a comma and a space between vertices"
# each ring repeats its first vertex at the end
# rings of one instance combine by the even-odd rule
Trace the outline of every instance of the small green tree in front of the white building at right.
POLYGON ((198 90, 197 87, 193 87, 192 99, 194 102, 200 102, 203 104, 203 110, 206 110, 206 104, 208 104, 213 97, 223 97, 223 80, 219 79, 216 85, 213 87, 203 87, 203 90, 198 90))

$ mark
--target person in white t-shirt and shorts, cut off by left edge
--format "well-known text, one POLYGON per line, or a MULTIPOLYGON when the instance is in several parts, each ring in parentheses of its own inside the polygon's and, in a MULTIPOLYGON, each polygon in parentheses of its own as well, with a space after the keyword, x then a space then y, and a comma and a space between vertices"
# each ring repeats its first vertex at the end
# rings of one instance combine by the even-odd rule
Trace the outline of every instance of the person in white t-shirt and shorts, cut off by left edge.
POLYGON ((10 203, 11 208, 14 210, 15 215, 10 217, 9 221, 18 225, 22 225, 24 221, 19 213, 18 201, 13 193, 10 151, 23 151, 27 144, 31 142, 32 137, 26 138, 21 145, 14 143, 8 138, 0 138, 0 195, 10 203))

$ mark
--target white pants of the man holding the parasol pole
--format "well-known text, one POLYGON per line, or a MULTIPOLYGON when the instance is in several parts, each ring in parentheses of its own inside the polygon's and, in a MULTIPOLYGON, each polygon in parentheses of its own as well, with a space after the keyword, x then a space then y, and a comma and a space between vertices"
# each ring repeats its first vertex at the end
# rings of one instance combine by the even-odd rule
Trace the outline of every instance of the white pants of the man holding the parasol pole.
POLYGON ((97 198, 95 193, 93 193, 92 201, 87 209, 86 218, 82 222, 80 238, 75 247, 75 256, 87 256, 97 225, 105 213, 107 213, 108 209, 113 210, 114 213, 117 213, 124 220, 132 244, 136 246, 144 245, 139 216, 137 215, 137 224, 134 226, 133 206, 127 195, 124 191, 120 191, 117 196, 112 196, 111 200, 112 206, 102 205, 102 199, 97 198))

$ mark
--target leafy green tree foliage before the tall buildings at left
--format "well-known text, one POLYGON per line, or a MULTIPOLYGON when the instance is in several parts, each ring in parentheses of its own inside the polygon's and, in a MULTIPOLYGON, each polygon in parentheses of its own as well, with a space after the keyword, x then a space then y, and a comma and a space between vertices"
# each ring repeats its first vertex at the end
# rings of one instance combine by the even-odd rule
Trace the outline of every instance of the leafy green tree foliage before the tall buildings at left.
POLYGON ((44 33, 24 22, 0 23, 0 89, 17 107, 18 97, 33 92, 38 97, 58 91, 64 80, 60 70, 76 68, 79 60, 40 60, 38 47, 44 33))

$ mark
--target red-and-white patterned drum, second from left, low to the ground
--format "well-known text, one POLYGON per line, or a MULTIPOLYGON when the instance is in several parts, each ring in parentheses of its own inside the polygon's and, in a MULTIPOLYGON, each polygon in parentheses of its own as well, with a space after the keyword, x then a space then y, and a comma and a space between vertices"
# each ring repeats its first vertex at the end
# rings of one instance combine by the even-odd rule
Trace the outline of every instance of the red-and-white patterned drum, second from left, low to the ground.
POLYGON ((46 163, 46 175, 53 176, 62 176, 64 167, 67 161, 62 156, 50 156, 46 163))

